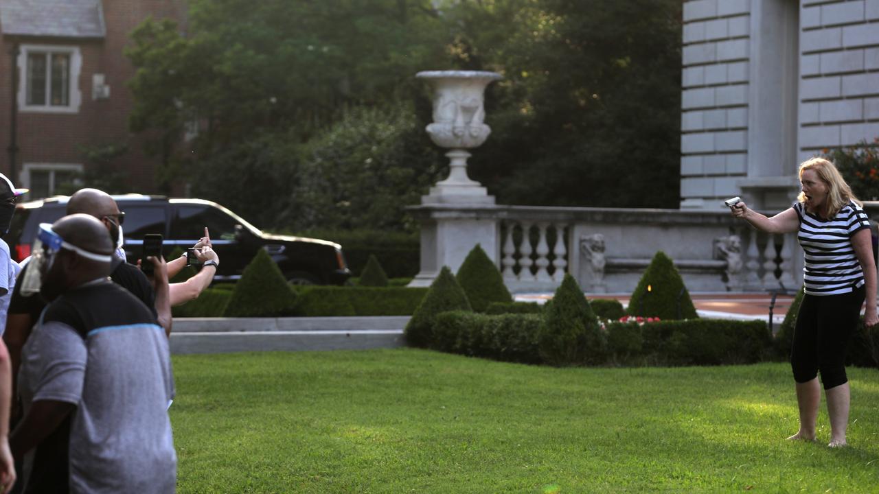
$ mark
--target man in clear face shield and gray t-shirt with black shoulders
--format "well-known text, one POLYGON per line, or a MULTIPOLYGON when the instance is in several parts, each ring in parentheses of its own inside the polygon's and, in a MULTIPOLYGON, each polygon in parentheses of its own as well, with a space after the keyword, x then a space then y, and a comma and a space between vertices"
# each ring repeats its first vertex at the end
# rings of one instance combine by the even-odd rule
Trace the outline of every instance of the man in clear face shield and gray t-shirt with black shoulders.
POLYGON ((40 225, 29 266, 49 305, 22 352, 25 416, 10 438, 17 459, 34 452, 25 492, 174 490, 168 338, 107 279, 113 243, 101 230, 86 214, 40 225))

